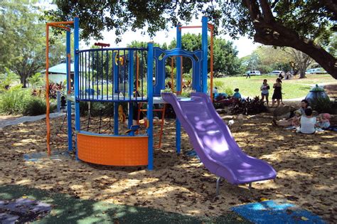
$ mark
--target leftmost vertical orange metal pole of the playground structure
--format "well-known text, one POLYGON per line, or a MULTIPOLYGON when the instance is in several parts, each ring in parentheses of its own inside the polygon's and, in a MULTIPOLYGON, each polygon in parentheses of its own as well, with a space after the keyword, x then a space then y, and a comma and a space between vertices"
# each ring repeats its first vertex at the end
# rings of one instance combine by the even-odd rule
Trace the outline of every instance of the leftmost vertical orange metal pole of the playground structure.
POLYGON ((47 123, 47 151, 50 156, 50 121, 49 121, 49 26, 46 25, 46 123, 47 123))

